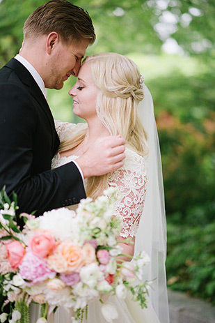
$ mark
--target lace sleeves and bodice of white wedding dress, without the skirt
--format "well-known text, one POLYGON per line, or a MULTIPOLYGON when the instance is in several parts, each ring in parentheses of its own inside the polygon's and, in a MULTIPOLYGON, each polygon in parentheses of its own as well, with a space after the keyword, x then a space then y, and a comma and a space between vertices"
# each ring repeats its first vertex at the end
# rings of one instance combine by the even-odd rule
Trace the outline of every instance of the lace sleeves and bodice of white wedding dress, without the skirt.
MULTIPOLYGON (((56 121, 56 130, 60 140, 70 138, 70 133, 74 133, 81 128, 86 128, 86 123, 67 123, 56 121)), ((122 231, 120 236, 136 236, 138 225, 143 214, 143 206, 146 195, 146 184, 148 182, 147 167, 143 157, 139 156, 129 148, 125 149, 126 158, 123 167, 109 175, 109 186, 118 187, 122 200, 116 202, 116 211, 113 214, 122 216, 122 231)), ((60 167, 75 160, 78 156, 72 155, 61 157, 57 153, 51 162, 51 168, 60 167)), ((85 180, 85 187, 86 187, 85 180)))

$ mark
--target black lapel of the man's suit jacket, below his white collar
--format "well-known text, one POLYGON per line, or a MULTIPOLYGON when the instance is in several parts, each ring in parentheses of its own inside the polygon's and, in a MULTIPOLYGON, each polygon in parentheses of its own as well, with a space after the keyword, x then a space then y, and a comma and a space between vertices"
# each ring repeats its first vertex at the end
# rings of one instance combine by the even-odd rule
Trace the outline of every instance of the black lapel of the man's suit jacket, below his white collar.
POLYGON ((35 98, 35 100, 38 101, 39 106, 45 112, 47 119, 49 120, 49 125, 51 129, 52 151, 56 153, 56 150, 59 144, 59 139, 54 126, 54 119, 51 114, 51 110, 49 108, 47 100, 45 99, 45 96, 40 90, 40 87, 38 86, 37 82, 35 82, 31 73, 29 73, 29 70, 27 70, 22 65, 22 63, 17 61, 17 59, 10 59, 10 61, 6 64, 6 67, 13 69, 17 74, 17 76, 19 77, 19 79, 22 81, 22 83, 26 84, 26 86, 29 87, 29 93, 31 93, 31 95, 35 98))

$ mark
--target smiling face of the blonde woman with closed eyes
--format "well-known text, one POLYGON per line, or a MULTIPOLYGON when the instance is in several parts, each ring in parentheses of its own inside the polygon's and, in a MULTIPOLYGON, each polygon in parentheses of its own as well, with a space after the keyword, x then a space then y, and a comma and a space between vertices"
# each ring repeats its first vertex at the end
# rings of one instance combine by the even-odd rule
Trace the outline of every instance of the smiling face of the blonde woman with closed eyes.
POLYGON ((97 117, 95 105, 97 98, 97 87, 93 82, 91 68, 89 63, 84 63, 79 70, 77 82, 69 91, 72 96, 73 113, 78 117, 90 121, 90 119, 97 117))

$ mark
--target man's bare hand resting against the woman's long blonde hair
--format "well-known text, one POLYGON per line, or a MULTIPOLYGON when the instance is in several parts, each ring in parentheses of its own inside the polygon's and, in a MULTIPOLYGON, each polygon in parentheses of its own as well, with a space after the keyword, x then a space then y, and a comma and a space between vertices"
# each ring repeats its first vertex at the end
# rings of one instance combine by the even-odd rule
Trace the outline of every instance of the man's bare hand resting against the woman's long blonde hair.
POLYGON ((83 177, 104 175, 122 167, 124 144, 125 140, 119 135, 98 138, 86 153, 75 160, 83 177))

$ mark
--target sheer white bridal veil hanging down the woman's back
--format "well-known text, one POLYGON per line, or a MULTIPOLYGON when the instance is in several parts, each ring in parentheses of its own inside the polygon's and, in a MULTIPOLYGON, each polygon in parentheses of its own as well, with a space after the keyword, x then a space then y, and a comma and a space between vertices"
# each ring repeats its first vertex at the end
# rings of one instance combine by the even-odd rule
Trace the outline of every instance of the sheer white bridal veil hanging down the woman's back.
POLYGON ((148 188, 141 222, 136 236, 135 251, 145 250, 151 262, 143 274, 143 280, 152 281, 150 299, 161 323, 169 323, 168 296, 166 289, 166 214, 161 153, 154 105, 150 91, 143 84, 145 98, 139 103, 141 121, 148 134, 149 155, 148 188))

